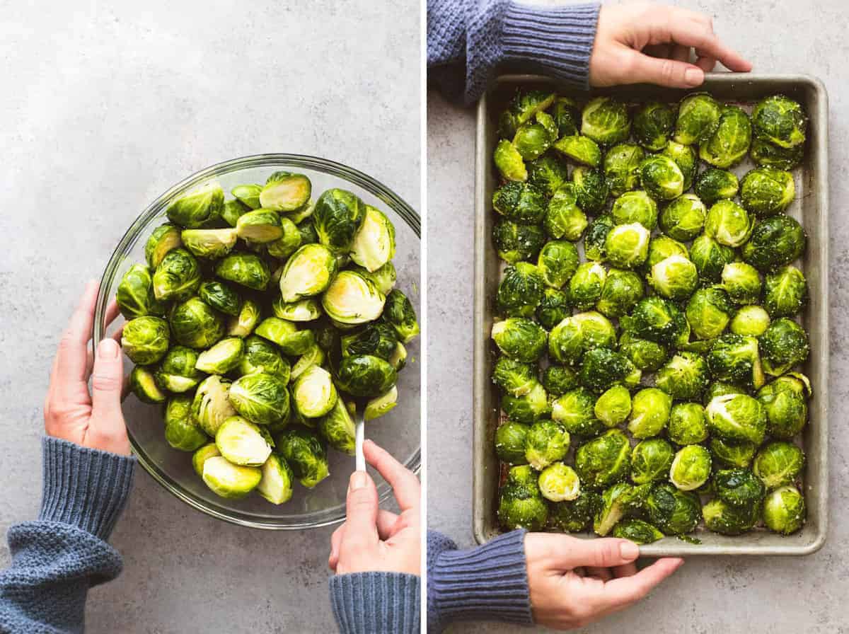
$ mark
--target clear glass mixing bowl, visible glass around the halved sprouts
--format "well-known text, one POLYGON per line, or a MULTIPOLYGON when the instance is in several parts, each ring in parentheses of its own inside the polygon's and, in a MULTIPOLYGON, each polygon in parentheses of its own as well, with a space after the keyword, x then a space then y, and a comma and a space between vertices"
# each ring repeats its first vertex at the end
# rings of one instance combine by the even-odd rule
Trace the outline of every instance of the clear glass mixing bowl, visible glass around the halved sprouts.
MULTIPOLYGON (((199 171, 155 199, 132 223, 121 238, 100 283, 94 322, 93 343, 121 327, 121 317, 107 326, 106 307, 127 269, 144 261, 144 243, 155 227, 166 220, 172 199, 208 178, 215 177, 225 192, 247 182, 265 182, 273 171, 288 170, 306 174, 315 195, 328 188, 345 188, 366 203, 384 211, 395 224, 397 288, 402 289, 419 311, 419 233, 420 222, 410 205, 385 185, 361 171, 332 160, 297 154, 260 154, 228 160, 199 171)), ((127 367, 130 362, 127 360, 127 367)), ((413 471, 419 470, 420 365, 418 339, 408 345, 408 363, 398 375, 398 405, 384 417, 366 425, 366 437, 373 439, 413 471)), ((345 497, 354 458, 329 450, 330 476, 314 489, 295 485, 289 502, 275 506, 258 495, 242 500, 225 500, 210 491, 192 468, 192 454, 168 446, 163 433, 161 407, 147 405, 128 396, 124 415, 132 450, 138 462, 156 481, 183 502, 204 513, 233 524, 268 530, 316 528, 345 519, 345 497)), ((380 500, 391 497, 391 487, 372 473, 380 500)))

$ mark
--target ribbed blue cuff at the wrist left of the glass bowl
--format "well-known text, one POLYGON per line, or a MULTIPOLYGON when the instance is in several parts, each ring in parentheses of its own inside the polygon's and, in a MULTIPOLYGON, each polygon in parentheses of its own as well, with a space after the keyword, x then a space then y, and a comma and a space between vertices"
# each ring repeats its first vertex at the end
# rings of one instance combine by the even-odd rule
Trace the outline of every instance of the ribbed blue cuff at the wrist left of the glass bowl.
POLYGON ((38 519, 108 539, 127 502, 136 459, 49 436, 42 440, 42 452, 44 483, 38 519))

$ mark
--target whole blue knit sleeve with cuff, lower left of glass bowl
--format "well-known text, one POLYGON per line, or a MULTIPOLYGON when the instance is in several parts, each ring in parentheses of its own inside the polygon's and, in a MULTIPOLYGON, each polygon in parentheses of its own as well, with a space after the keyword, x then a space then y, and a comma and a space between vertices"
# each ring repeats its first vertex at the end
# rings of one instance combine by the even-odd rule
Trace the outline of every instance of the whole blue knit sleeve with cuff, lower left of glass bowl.
POLYGON ((45 438, 38 520, 8 530, 12 564, 0 571, 0 632, 82 632, 88 588, 114 579, 106 543, 132 486, 135 458, 45 438))

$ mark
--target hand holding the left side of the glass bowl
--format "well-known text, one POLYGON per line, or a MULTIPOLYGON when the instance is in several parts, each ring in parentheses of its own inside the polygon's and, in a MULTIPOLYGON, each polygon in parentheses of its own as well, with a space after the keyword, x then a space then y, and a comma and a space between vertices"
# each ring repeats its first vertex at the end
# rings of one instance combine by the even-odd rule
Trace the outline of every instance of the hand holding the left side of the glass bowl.
MULTIPOLYGON (((44 430, 50 436, 80 446, 129 456, 130 441, 121 412, 124 383, 121 346, 107 337, 98 344, 96 358, 89 351, 97 298, 98 283, 87 283, 80 305, 59 341, 44 401, 44 430)), ((107 322, 117 315, 118 308, 112 304, 107 311, 107 322)))

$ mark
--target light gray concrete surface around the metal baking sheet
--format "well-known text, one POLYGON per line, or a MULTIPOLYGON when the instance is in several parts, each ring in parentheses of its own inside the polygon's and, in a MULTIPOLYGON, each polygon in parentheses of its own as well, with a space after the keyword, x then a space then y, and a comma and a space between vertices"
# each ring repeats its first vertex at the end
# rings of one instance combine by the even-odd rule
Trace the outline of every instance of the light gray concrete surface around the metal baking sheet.
MULTIPOLYGON (((819 76, 830 96, 831 126, 831 453, 830 530, 825 547, 807 558, 714 558, 687 562, 644 603, 589 626, 593 634, 806 631, 849 632, 849 185, 846 125, 849 69, 844 0, 684 0, 711 14, 722 38, 756 70, 819 76)), ((428 96, 429 209, 429 525, 461 547, 471 534, 472 203, 474 113, 428 96), (438 395, 438 398, 434 398, 438 395), (450 491, 450 493, 449 493, 450 491)), ((527 631, 510 626, 454 626, 452 632, 527 631)))

